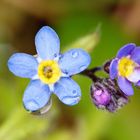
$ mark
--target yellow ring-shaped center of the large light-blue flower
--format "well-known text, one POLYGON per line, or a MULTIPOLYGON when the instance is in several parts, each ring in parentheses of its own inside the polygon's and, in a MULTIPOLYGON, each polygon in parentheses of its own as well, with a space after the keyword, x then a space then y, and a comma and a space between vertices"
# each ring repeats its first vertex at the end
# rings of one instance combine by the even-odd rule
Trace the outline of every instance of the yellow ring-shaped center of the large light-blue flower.
POLYGON ((46 84, 53 84, 59 80, 61 76, 61 70, 56 61, 46 60, 39 64, 38 75, 42 82, 46 84))

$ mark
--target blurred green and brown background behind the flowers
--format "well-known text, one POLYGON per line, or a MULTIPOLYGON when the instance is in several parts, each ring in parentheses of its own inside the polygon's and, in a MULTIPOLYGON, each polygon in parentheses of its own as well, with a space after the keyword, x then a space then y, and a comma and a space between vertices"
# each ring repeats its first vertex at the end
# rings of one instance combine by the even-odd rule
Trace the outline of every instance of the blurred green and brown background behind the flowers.
POLYGON ((90 67, 101 65, 124 44, 140 44, 139 15, 139 0, 1 0, 0 140, 140 140, 138 89, 128 105, 111 114, 95 108, 89 96, 91 81, 78 75, 74 77, 82 89, 78 105, 68 107, 52 96, 48 114, 34 116, 22 106, 29 80, 7 69, 14 52, 35 54, 34 36, 43 25, 56 30, 61 49, 100 25, 99 40, 88 43, 97 41, 90 51, 90 67))

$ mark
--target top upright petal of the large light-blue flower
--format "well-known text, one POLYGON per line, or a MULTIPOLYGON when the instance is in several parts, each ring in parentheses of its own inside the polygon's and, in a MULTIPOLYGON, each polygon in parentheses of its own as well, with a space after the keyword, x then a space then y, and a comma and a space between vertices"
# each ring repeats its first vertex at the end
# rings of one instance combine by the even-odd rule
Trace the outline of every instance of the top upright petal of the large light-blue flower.
POLYGON ((42 59, 54 59, 59 56, 60 40, 56 32, 48 27, 42 27, 35 36, 36 50, 42 59))

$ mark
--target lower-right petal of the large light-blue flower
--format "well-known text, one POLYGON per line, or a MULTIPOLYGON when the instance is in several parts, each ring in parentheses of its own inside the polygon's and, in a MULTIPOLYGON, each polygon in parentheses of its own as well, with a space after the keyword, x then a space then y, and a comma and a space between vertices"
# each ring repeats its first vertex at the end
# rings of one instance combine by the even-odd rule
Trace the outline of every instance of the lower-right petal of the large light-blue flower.
POLYGON ((71 78, 61 78, 54 87, 54 93, 67 105, 75 105, 79 102, 81 90, 79 85, 71 78))

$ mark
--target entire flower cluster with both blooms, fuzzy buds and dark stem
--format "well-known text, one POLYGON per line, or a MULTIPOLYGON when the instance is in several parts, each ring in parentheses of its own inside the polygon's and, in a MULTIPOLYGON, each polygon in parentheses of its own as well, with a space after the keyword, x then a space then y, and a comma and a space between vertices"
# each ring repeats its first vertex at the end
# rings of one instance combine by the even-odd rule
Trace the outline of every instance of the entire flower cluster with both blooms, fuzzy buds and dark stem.
POLYGON ((81 90, 71 77, 78 73, 93 81, 90 93, 95 106, 109 112, 128 103, 129 96, 133 95, 132 84, 140 86, 140 48, 135 44, 123 46, 114 59, 92 69, 87 69, 90 56, 82 49, 61 54, 59 37, 48 26, 36 34, 35 46, 37 55, 16 53, 8 60, 8 68, 13 74, 31 79, 24 92, 23 104, 26 110, 35 114, 48 111, 52 93, 66 105, 77 104, 81 90), (95 72, 100 70, 109 77, 97 77, 95 72))

